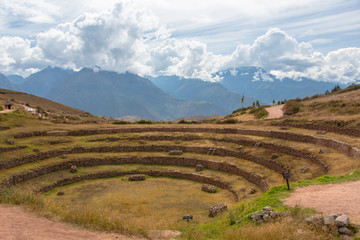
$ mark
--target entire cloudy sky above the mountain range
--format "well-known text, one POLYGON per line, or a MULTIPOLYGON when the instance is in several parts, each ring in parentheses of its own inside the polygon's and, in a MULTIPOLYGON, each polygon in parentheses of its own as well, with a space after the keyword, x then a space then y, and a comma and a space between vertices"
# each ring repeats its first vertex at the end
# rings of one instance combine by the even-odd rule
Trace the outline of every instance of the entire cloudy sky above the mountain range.
POLYGON ((219 81, 256 66, 279 78, 360 80, 359 0, 0 0, 0 72, 49 65, 219 81))

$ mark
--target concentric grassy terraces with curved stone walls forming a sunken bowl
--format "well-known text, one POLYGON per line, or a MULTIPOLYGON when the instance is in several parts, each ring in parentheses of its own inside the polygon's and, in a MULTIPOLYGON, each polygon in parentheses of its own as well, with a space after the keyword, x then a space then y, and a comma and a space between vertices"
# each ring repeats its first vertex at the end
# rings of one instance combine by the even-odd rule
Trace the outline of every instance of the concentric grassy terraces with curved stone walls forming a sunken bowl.
MULTIPOLYGON (((152 179, 162 179, 161 184, 165 185, 173 185, 174 181, 186 183, 188 189, 198 189, 199 199, 192 199, 187 208, 179 207, 179 212, 174 214, 194 215, 207 221, 208 206, 197 203, 202 199, 231 207, 237 201, 258 196, 271 186, 284 184, 284 171, 290 171, 294 181, 334 171, 345 173, 360 166, 360 140, 356 136, 338 133, 327 136, 316 130, 281 130, 278 126, 266 125, 254 129, 240 124, 224 126, 164 124, 100 128, 87 125, 77 130, 70 126, 28 132, 2 130, 0 187, 45 193, 44 197, 55 203, 82 204, 89 203, 87 198, 94 197, 92 192, 98 194, 108 186, 102 185, 105 179, 124 180, 132 174, 143 174, 145 181, 118 184, 142 189, 141 184, 155 181, 152 179), (11 145, 8 139, 12 139, 11 145), (319 153, 320 149, 326 151, 319 153), (170 154, 173 152, 177 154, 170 154), (75 170, 70 172, 70 169, 75 170), (204 183, 220 190, 212 194, 203 192, 204 183), (80 188, 83 185, 92 187, 80 188), (64 194, 55 196, 53 193, 57 191, 64 194), (67 198, 71 198, 71 203, 67 198)), ((163 188, 156 189, 152 194, 160 194, 156 191, 163 188)), ((169 194, 168 202, 172 202, 170 195, 174 193, 169 194)), ((185 195, 178 192, 177 196, 185 195)), ((138 198, 142 198, 140 192, 138 198)), ((112 198, 104 196, 104 199, 112 198)), ((116 201, 121 202, 118 198, 116 201)), ((146 200, 143 202, 151 205, 146 200)), ((125 205, 131 209, 130 202, 125 205)), ((169 210, 170 205, 163 206, 163 211, 169 210)), ((177 217, 174 216, 174 221, 177 217)))

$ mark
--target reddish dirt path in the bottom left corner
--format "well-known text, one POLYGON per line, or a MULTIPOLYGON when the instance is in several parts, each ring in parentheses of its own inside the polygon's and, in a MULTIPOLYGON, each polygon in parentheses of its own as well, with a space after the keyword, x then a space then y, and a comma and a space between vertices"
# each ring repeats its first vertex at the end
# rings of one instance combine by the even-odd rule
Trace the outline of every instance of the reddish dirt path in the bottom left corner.
POLYGON ((38 217, 20 207, 0 205, 0 239, 2 240, 136 240, 120 234, 74 228, 68 224, 38 217))

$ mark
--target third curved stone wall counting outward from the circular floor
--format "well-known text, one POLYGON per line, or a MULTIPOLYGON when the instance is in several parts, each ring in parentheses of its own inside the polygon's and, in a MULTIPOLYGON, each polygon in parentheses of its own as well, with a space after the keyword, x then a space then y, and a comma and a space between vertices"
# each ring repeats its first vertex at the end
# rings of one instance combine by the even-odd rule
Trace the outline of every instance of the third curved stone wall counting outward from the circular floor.
MULTIPOLYGON (((207 147, 186 147, 186 146, 157 146, 157 145, 148 145, 148 146, 112 146, 112 147, 75 147, 69 150, 55 150, 49 152, 39 152, 34 155, 29 155, 22 158, 12 159, 7 162, 0 163, 0 169, 9 169, 25 163, 45 160, 48 158, 53 158, 61 156, 63 154, 76 154, 76 153, 90 153, 90 152, 169 152, 170 150, 181 150, 183 152, 192 152, 192 153, 202 153, 206 154, 209 150, 207 147)), ((217 148, 213 155, 217 156, 229 156, 236 157, 241 159, 246 159, 248 161, 263 165, 271 170, 274 170, 280 174, 287 171, 289 168, 282 163, 273 160, 254 156, 247 154, 241 151, 232 151, 222 148, 217 148)))

